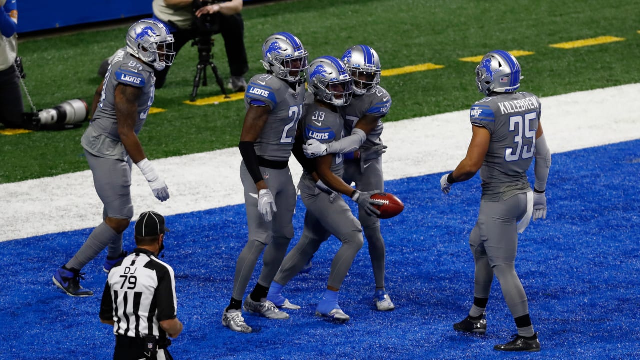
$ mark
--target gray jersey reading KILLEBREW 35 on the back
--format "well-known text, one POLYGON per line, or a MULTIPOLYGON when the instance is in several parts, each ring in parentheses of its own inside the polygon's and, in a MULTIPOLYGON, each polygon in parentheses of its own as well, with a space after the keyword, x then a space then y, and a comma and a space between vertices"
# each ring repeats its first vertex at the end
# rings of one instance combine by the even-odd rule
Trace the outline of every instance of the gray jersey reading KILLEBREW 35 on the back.
POLYGON ((531 189, 527 170, 533 161, 540 115, 540 99, 526 92, 485 97, 471 107, 471 124, 491 134, 480 169, 483 200, 506 200, 531 189))

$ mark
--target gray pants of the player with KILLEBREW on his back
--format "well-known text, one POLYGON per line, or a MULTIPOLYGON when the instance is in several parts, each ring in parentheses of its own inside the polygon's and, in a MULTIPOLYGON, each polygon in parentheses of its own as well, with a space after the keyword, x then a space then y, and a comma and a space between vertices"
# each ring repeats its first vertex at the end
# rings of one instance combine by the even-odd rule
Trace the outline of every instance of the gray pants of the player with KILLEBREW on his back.
POLYGON ((527 294, 516 274, 518 252, 516 222, 527 213, 527 194, 519 193, 499 202, 483 201, 469 245, 476 263, 474 296, 488 299, 493 275, 498 278, 502 295, 513 318, 527 315, 527 294))

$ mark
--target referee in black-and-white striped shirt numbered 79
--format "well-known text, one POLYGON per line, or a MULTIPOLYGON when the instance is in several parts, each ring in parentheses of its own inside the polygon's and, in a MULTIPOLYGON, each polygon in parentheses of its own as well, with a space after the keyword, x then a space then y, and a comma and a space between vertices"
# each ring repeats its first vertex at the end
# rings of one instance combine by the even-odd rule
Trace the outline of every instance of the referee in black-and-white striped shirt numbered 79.
POLYGON ((113 326, 114 360, 170 359, 167 347, 182 332, 175 275, 157 256, 164 250, 164 217, 154 211, 136 222, 136 249, 111 272, 102 294, 100 322, 113 326))

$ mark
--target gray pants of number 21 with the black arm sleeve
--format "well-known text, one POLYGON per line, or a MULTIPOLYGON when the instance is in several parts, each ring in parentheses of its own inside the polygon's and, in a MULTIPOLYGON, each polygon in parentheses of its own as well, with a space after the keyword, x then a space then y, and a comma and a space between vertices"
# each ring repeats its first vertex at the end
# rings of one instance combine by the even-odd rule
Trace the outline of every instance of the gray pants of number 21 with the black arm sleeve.
POLYGON ((240 165, 240 178, 244 187, 244 204, 249 227, 249 240, 240 252, 236 262, 233 298, 242 300, 249 281, 264 250, 262 262, 264 267, 258 283, 266 288, 271 286, 282 259, 287 254, 289 243, 293 238, 293 213, 296 209, 296 186, 293 184, 289 167, 283 170, 260 167, 265 174, 265 182, 275 199, 278 211, 273 213, 273 220, 266 222, 258 211, 258 191, 246 165, 240 165))

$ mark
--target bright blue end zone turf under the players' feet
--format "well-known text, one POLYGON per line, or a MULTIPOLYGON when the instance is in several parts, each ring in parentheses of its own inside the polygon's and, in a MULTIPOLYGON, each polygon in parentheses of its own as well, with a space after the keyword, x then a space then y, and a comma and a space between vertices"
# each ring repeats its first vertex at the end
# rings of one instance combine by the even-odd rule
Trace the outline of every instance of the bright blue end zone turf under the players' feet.
MULTIPOLYGON (((540 332, 535 359, 627 359, 640 343, 640 140, 554 154, 547 220, 520 236, 516 270, 540 332), (635 345, 634 345, 635 344, 635 345)), ((245 313, 253 334, 221 325, 237 255, 246 242, 244 206, 167 218, 164 261, 175 269, 184 332, 170 348, 175 359, 484 359, 511 358, 493 350, 515 324, 497 281, 485 336, 466 336, 452 324, 467 316, 473 293, 468 234, 480 200, 478 176, 440 192, 441 174, 387 182, 405 204, 382 220, 387 242, 387 290, 397 309, 379 313, 367 245, 351 268, 339 300, 352 320, 338 325, 314 316, 339 241, 316 254, 309 274, 284 295, 302 306, 290 320, 245 313)), ((296 238, 304 208, 295 215, 296 238)), ((99 219, 96 219, 98 222, 99 219)), ((98 223, 96 223, 97 225, 98 223)), ((37 226, 37 222, 33 222, 37 226)), ((125 249, 133 248, 132 229, 125 249)), ((84 272, 92 298, 68 297, 51 277, 92 229, 0 243, 1 359, 111 359, 113 330, 99 322, 106 275, 103 253, 84 272)), ((259 264, 259 268, 261 268, 259 264)), ((254 274, 248 291, 257 279, 254 274)), ((524 358, 518 356, 518 358, 524 358)))

